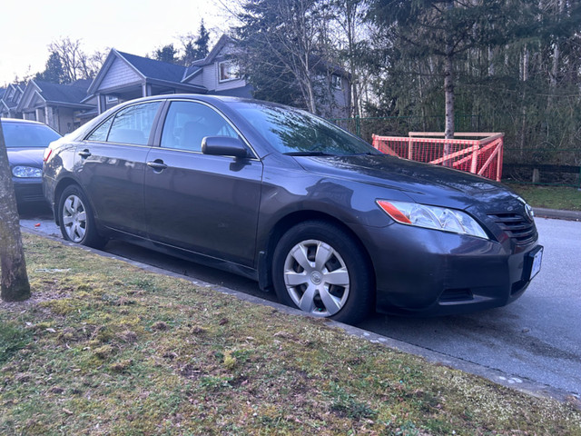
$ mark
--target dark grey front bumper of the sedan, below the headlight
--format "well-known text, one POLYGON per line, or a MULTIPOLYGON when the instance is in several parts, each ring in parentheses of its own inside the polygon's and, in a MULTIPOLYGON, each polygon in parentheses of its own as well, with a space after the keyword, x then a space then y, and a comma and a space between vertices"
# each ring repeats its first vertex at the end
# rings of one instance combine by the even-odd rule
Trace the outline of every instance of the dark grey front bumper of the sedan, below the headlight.
POLYGON ((366 231, 379 312, 447 315, 504 306, 525 292, 542 250, 399 224, 366 231))

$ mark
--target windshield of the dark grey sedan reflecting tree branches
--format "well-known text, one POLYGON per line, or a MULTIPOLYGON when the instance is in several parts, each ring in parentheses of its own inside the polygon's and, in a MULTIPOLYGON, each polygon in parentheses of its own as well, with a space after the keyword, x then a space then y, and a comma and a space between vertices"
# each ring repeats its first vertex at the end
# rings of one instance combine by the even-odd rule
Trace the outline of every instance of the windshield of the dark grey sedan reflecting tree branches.
POLYGON ((298 109, 247 102, 231 104, 231 107, 283 154, 380 154, 335 124, 298 109))

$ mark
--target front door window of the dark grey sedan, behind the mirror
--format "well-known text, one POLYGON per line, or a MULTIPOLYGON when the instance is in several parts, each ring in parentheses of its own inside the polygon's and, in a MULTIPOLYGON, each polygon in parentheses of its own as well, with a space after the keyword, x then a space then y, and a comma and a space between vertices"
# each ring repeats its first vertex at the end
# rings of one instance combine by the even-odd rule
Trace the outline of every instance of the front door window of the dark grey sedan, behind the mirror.
POLYGON ((162 147, 200 152, 205 136, 239 137, 211 107, 194 102, 172 102, 163 124, 162 147))

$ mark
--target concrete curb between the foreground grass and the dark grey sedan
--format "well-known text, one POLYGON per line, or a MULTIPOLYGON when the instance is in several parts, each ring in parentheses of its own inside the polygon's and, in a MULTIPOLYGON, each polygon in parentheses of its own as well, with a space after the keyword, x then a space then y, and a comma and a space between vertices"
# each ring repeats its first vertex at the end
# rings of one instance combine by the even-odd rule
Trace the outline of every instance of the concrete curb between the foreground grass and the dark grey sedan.
MULTIPOLYGON (((95 250, 94 248, 85 247, 85 246, 79 245, 77 243, 69 243, 69 242, 64 241, 61 238, 58 238, 58 237, 55 237, 52 235, 48 235, 46 233, 39 232, 35 229, 30 229, 30 228, 26 228, 26 227, 21 226, 21 230, 25 233, 31 233, 31 234, 35 234, 37 236, 42 236, 42 237, 50 239, 52 241, 55 241, 58 243, 63 243, 64 245, 67 245, 67 246, 80 248, 81 250, 84 250, 84 251, 89 252, 89 253, 94 253, 94 254, 98 254, 98 255, 103 256, 103 257, 107 257, 109 259, 114 259, 114 260, 122 261, 124 263, 129 263, 129 264, 136 266, 137 268, 140 268, 140 269, 147 271, 147 272, 154 272, 154 273, 163 274, 163 275, 166 275, 169 277, 174 277, 174 278, 186 280, 188 282, 191 282, 192 284, 195 284, 196 286, 201 286, 201 287, 206 288, 206 289, 212 289, 212 290, 217 291, 217 292, 222 292, 224 294, 234 296, 234 297, 238 298, 239 300, 242 300, 245 302, 252 302, 254 304, 261 304, 264 306, 269 306, 269 307, 272 307, 273 309, 275 309, 279 312, 288 313, 291 315, 304 316, 304 317, 311 316, 309 314, 301 312, 300 310, 293 309, 289 306, 285 306, 285 305, 280 304, 278 302, 270 302, 268 300, 264 300, 260 297, 254 296, 254 295, 249 295, 249 294, 246 294, 244 292, 235 291, 233 289, 230 289, 230 288, 227 288, 227 287, 224 287, 221 285, 213 284, 210 282, 204 282, 202 280, 197 280, 197 279, 192 278, 192 277, 187 276, 187 275, 182 275, 182 274, 179 274, 176 272, 163 270, 163 269, 158 268, 156 266, 148 265, 147 263, 133 261, 131 259, 125 258, 123 256, 119 256, 116 254, 102 252, 101 250, 95 250)), ((317 318, 317 319, 320 319, 320 318, 317 318)), ((362 339, 364 341, 368 341, 371 343, 377 343, 379 345, 385 346, 385 347, 392 349, 392 350, 396 350, 398 352, 405 352, 408 354, 413 354, 413 355, 422 357, 426 361, 428 361, 432 364, 444 365, 444 366, 448 366, 449 368, 452 368, 452 369, 455 369, 458 371, 468 372, 470 374, 478 375, 484 379, 487 379, 489 381, 493 381, 494 383, 497 383, 497 384, 502 385, 504 387, 507 387, 509 389, 524 392, 527 395, 532 395, 532 396, 535 396, 538 398, 547 398, 548 397, 548 398, 553 398, 557 401, 573 402, 575 404, 579 404, 579 406, 576 406, 576 407, 579 410, 581 410, 581 398, 579 398, 579 396, 577 396, 576 394, 573 394, 572 392, 562 391, 562 390, 559 390, 559 389, 554 388, 552 386, 548 386, 546 384, 543 384, 543 383, 540 383, 537 381, 532 381, 532 380, 527 380, 527 379, 524 379, 521 377, 517 377, 514 374, 507 374, 506 372, 501 372, 497 369, 488 368, 487 366, 479 365, 478 363, 468 362, 468 361, 465 361, 462 359, 458 359, 456 357, 449 356, 447 354, 443 354, 441 352, 434 352, 432 350, 429 350, 428 348, 422 348, 422 347, 419 347, 417 345, 413 345, 413 344, 408 343, 408 342, 402 342, 402 341, 399 341, 399 340, 396 340, 393 338, 389 338, 388 336, 382 336, 378 333, 368 332, 366 330, 359 329, 356 326, 344 324, 342 322, 336 322, 336 321, 332 321, 332 320, 325 320, 325 322, 330 327, 338 328, 338 329, 342 330, 343 332, 346 332, 352 336, 358 337, 359 339, 362 339)))

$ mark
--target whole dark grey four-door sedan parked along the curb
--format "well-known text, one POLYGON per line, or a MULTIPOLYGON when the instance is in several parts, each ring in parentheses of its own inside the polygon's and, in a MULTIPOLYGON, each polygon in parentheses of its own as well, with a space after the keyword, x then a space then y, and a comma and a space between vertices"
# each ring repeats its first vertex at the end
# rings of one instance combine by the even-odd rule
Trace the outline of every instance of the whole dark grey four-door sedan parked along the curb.
POLYGON ((44 192, 67 240, 121 238, 237 272, 343 322, 502 306, 542 256, 530 207, 500 183, 231 97, 114 107, 51 145, 44 192))

